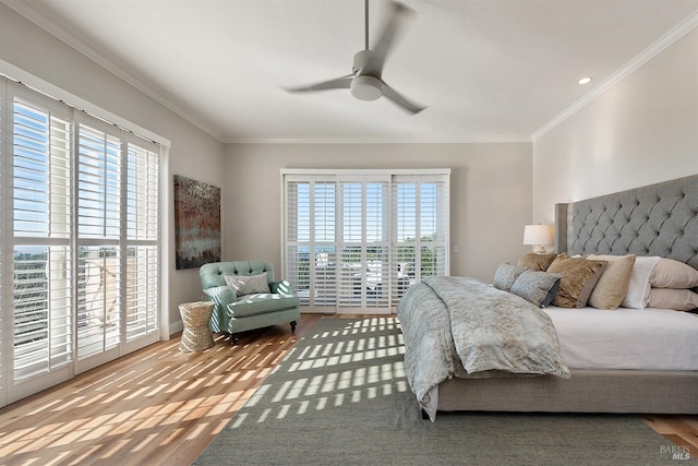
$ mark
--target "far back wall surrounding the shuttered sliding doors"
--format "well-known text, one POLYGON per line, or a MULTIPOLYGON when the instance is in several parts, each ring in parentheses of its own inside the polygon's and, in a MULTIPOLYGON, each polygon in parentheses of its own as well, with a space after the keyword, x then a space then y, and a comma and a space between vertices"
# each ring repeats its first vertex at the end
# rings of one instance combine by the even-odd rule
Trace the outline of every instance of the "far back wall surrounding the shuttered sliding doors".
POLYGON ((531 144, 229 144, 224 256, 280 271, 281 168, 450 168, 452 275, 491 282, 531 218, 531 144), (452 248, 453 251, 453 248, 452 248))

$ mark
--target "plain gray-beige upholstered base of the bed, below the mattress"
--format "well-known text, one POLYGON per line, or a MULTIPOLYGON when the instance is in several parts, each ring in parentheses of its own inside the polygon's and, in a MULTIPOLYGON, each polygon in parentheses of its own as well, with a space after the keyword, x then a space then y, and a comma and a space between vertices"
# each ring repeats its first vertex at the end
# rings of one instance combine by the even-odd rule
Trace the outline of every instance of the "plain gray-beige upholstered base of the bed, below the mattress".
POLYGON ((571 370, 510 379, 449 379, 440 411, 698 414, 698 372, 571 370))

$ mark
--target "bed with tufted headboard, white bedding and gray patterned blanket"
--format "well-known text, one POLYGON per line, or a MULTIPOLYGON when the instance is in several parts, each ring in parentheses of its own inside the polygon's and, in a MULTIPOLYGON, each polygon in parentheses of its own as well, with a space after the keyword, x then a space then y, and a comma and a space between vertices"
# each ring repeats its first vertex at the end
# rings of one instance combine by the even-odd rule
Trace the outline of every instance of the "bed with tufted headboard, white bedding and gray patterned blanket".
MULTIPOLYGON (((557 253, 573 258, 631 254, 638 259, 637 264, 665 258, 687 264, 691 271, 698 270, 698 175, 555 207, 557 253)), ((510 292, 464 277, 423 282, 426 283, 410 287, 397 314, 405 338, 408 382, 424 417, 434 420, 437 411, 454 410, 698 414, 698 314, 695 312, 643 307, 539 309, 529 304, 530 312, 526 313, 535 314, 535 322, 526 323, 525 332, 531 332, 531 325, 541 327, 545 337, 550 332, 546 322, 550 322, 558 340, 557 353, 555 342, 550 351, 547 346, 543 349, 535 346, 545 339, 539 338, 533 349, 519 348, 515 358, 521 359, 526 351, 543 353, 543 365, 526 362, 528 367, 524 370, 508 371, 491 369, 493 366, 488 366, 491 361, 469 360, 471 356, 464 351, 469 345, 472 351, 473 345, 454 343, 467 340, 464 335, 482 331, 484 324, 476 325, 476 330, 458 327, 455 338, 446 335, 443 327, 434 328, 441 321, 454 327, 467 325, 449 320, 452 315, 477 312, 482 307, 489 309, 485 314, 503 306, 502 315, 518 314, 507 308, 512 304, 505 295, 510 292), (466 302, 465 311, 443 310, 461 298, 476 301, 466 302), (504 301, 507 303, 503 304, 504 301), (426 312, 430 307, 442 308, 426 312), (579 315, 586 326, 580 324, 579 315), (643 320, 647 323, 642 323, 643 320), (664 325, 666 328, 660 331, 664 325), (581 333, 575 337, 576 332, 581 333), (616 339, 622 343, 613 346, 616 339), (466 348, 456 349, 455 345, 466 348), (436 347, 441 349, 434 351, 436 347), (588 354, 586 349, 593 351, 588 354), (421 369, 417 368, 418 363, 421 369), (424 372, 430 372, 430 381, 423 379, 424 372)), ((690 290, 695 291, 698 288, 690 290)), ((500 326, 502 319, 498 319, 500 326)), ((512 342, 504 338, 503 345, 520 344, 512 342)))

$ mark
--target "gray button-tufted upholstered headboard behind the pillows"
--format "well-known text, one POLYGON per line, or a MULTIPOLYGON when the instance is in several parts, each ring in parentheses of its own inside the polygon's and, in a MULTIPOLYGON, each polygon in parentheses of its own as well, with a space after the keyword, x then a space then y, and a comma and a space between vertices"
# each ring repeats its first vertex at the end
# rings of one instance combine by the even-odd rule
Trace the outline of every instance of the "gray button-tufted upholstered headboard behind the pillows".
POLYGON ((555 204, 557 252, 675 259, 698 268, 698 175, 555 204))

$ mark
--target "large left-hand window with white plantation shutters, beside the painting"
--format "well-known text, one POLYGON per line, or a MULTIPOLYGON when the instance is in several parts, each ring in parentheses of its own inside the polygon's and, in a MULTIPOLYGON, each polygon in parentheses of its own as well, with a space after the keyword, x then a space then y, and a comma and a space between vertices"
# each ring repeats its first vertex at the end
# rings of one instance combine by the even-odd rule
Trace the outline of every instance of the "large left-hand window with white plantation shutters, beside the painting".
POLYGON ((157 340, 160 151, 0 82, 0 226, 12 231, 0 273, 13 283, 9 297, 0 288, 0 342, 12 342, 0 382, 12 403, 157 340))

